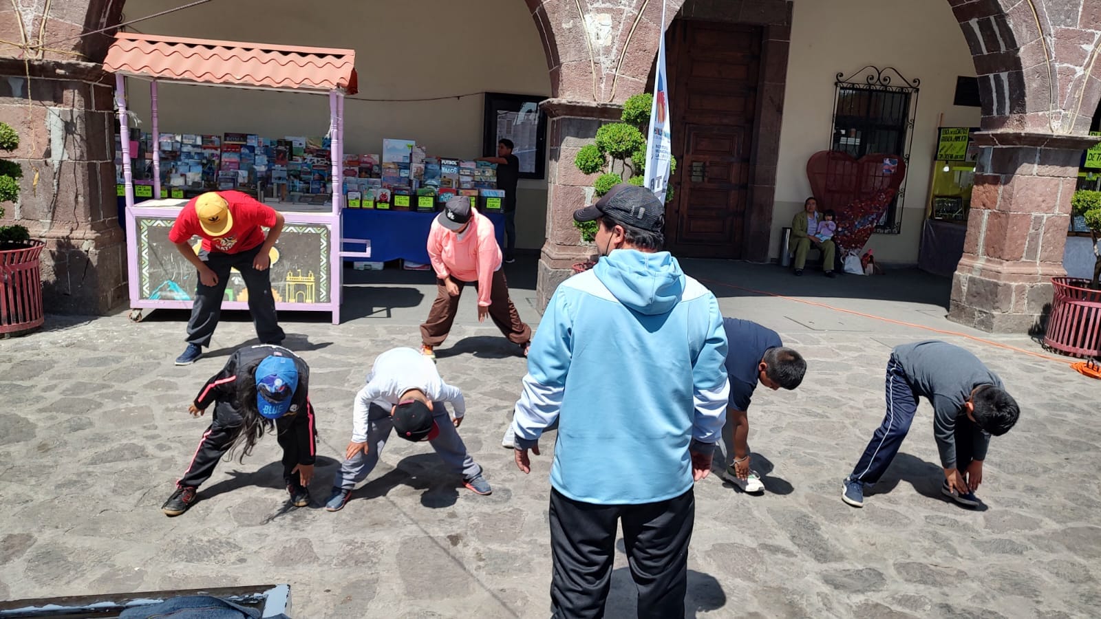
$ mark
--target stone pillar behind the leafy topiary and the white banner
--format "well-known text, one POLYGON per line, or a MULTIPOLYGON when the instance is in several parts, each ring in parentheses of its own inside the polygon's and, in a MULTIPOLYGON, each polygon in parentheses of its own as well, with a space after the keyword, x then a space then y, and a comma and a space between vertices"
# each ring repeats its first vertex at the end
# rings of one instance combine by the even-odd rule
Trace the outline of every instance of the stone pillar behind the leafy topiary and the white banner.
POLYGON ((591 144, 597 129, 619 121, 623 108, 613 104, 547 99, 543 101, 550 133, 550 161, 547 166, 547 239, 539 256, 536 302, 542 312, 555 289, 570 276, 573 265, 590 260, 596 249, 581 242, 574 227, 574 210, 592 200, 596 174, 582 174, 574 158, 591 144))

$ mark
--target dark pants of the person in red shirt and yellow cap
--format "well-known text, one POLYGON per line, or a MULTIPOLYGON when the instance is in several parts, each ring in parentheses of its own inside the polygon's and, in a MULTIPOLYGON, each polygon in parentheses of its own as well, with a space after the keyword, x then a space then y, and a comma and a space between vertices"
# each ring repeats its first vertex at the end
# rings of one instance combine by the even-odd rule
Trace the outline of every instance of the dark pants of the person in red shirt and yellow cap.
POLYGON ((262 344, 280 344, 286 337, 275 317, 275 297, 272 296, 271 269, 257 271, 252 261, 260 253, 255 247, 240 253, 200 251, 199 260, 218 275, 218 283, 205 285, 200 279, 195 285, 195 301, 192 303, 192 319, 187 322, 187 344, 210 346, 210 336, 221 316, 221 300, 229 283, 230 269, 237 269, 249 291, 249 313, 257 327, 257 337, 262 344))

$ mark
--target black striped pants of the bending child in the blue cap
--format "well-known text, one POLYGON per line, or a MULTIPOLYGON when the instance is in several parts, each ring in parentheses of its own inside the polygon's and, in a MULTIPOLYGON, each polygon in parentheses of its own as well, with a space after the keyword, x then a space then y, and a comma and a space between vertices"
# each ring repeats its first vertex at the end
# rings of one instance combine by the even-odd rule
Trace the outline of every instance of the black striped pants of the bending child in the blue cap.
MULTIPOLYGON (((308 404, 307 404, 308 405, 308 404)), ((285 417, 275 421, 276 441, 283 447, 283 482, 299 482, 298 473, 291 470, 298 464, 298 442, 295 435, 298 432, 298 424, 309 423, 309 415, 294 415, 290 421, 282 422, 285 417)), ((178 487, 198 488, 204 481, 214 475, 214 468, 218 466, 218 460, 226 455, 226 452, 233 445, 233 439, 241 432, 241 415, 232 408, 218 403, 214 409, 214 419, 210 426, 203 433, 199 446, 195 449, 192 464, 187 466, 184 476, 176 481, 178 487)))

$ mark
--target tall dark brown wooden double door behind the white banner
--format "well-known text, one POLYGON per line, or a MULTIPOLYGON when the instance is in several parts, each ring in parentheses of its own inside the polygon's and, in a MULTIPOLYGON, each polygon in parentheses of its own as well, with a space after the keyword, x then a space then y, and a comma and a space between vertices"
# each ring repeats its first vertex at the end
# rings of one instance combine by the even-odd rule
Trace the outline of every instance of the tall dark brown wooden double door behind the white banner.
POLYGON ((666 69, 676 173, 666 248, 687 258, 741 258, 757 118, 762 29, 674 20, 666 69))

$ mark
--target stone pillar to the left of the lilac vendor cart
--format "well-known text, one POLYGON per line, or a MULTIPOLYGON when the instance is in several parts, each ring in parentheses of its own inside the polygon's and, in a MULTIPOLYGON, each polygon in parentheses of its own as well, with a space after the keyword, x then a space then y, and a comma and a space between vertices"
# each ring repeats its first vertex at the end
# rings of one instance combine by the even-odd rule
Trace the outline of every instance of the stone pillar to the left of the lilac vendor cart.
POLYGON ((19 202, 7 219, 46 242, 46 312, 103 314, 127 297, 111 88, 97 64, 0 58, 0 120, 15 129, 19 202), (30 84, 28 83, 30 73, 30 84))

